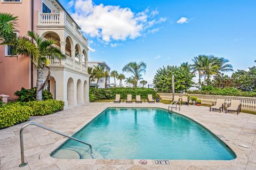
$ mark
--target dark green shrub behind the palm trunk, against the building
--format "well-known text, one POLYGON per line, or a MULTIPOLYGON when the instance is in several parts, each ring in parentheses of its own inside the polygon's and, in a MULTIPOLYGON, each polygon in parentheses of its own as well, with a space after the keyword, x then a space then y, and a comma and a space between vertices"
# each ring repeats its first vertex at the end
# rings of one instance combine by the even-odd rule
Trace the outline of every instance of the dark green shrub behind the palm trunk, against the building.
MULTIPOLYGON (((31 89, 25 89, 21 88, 21 90, 18 90, 14 92, 15 96, 18 96, 18 101, 21 102, 28 102, 28 101, 35 101, 36 100, 36 87, 31 89)), ((47 89, 43 90, 43 100, 49 100, 52 99, 52 94, 47 89)))

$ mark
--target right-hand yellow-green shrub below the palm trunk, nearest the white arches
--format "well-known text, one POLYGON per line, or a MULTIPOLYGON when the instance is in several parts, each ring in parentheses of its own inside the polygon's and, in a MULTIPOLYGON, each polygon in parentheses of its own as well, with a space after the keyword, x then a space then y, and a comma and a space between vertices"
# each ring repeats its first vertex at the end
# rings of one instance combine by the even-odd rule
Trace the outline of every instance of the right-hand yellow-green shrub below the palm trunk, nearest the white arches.
POLYGON ((43 116, 62 111, 64 107, 64 101, 54 99, 42 101, 29 101, 27 103, 22 103, 22 105, 29 106, 32 108, 33 112, 30 114, 31 116, 43 116))

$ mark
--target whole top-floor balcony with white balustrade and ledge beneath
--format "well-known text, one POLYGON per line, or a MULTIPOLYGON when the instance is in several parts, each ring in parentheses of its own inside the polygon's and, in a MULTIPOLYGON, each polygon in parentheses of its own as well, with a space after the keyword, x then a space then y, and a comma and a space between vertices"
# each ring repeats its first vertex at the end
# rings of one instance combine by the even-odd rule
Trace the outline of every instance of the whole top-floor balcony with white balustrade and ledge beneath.
POLYGON ((38 11, 37 28, 39 30, 63 30, 63 28, 84 46, 88 46, 88 41, 83 37, 82 32, 78 29, 77 25, 73 20, 69 18, 65 11, 60 13, 41 13, 38 11))

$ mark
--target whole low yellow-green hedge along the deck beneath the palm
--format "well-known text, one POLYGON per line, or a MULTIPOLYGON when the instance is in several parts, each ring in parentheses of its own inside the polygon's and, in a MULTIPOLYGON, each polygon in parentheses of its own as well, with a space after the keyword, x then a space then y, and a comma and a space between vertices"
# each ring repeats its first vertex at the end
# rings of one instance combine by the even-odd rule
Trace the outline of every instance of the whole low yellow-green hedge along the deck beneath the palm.
POLYGON ((54 99, 4 104, 0 107, 0 129, 25 122, 30 116, 49 115, 63 108, 64 101, 54 99))

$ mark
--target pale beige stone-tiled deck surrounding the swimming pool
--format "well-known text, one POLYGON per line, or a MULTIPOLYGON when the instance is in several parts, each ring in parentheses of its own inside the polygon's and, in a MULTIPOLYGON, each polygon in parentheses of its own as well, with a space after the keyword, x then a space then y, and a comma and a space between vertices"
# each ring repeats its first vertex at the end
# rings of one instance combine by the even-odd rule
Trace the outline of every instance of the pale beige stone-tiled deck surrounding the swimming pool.
MULTIPOLYGON (((28 122, 35 122, 49 128, 72 135, 100 114, 107 107, 159 107, 157 104, 113 104, 86 103, 52 115, 31 117, 28 122)), ((175 111, 175 109, 174 109, 175 111)), ((256 169, 256 115, 241 113, 209 112, 209 107, 181 106, 175 111, 204 125, 218 135, 234 150, 234 160, 169 160, 170 165, 155 165, 154 160, 147 160, 147 165, 140 165, 139 160, 95 160, 95 159, 55 159, 49 153, 61 145, 66 138, 28 126, 24 131, 25 167, 20 164, 19 130, 28 122, 0 130, 0 165, 2 169, 256 169), (238 146, 243 144, 250 148, 238 146)), ((100 140, 100 139, 99 139, 100 140)), ((92 143, 93 145, 93 143, 92 143)), ((171 143, 170 143, 171 145, 171 143)))

